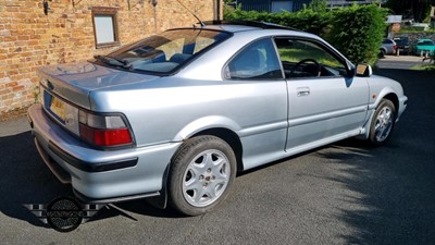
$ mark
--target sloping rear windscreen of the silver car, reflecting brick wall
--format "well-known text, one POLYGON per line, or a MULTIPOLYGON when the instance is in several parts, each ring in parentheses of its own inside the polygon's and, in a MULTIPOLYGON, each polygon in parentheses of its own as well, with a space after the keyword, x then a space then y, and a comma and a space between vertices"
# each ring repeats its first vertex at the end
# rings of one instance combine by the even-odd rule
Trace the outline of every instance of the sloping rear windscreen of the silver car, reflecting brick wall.
POLYGON ((199 28, 166 30, 96 59, 129 71, 172 73, 229 36, 228 33, 199 28))

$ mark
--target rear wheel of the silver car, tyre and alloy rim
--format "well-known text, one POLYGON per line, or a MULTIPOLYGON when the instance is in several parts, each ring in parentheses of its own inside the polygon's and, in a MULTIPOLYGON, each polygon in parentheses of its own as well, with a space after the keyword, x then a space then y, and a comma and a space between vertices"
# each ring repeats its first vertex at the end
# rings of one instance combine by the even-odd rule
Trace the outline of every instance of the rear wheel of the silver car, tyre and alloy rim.
POLYGON ((233 149, 219 137, 186 140, 172 159, 170 204, 187 216, 211 211, 227 196, 236 175, 233 149))

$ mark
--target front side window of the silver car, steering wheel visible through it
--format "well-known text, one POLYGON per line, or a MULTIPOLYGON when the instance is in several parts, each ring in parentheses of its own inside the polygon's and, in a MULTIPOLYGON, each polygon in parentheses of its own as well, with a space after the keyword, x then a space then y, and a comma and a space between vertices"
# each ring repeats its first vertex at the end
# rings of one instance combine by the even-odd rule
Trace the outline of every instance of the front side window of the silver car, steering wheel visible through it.
POLYGON ((286 78, 344 76, 346 65, 328 50, 309 40, 276 38, 286 78))

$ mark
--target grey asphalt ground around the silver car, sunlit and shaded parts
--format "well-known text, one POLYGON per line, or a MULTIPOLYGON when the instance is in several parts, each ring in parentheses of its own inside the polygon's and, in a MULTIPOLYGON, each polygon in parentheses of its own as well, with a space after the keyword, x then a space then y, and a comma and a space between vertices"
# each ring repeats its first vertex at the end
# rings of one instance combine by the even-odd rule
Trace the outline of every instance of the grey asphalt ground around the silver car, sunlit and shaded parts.
POLYGON ((217 210, 194 218, 135 200, 57 232, 23 205, 71 188, 39 158, 25 118, 2 122, 0 243, 435 244, 435 75, 387 59, 375 73, 409 97, 387 146, 347 139, 239 174, 217 210))

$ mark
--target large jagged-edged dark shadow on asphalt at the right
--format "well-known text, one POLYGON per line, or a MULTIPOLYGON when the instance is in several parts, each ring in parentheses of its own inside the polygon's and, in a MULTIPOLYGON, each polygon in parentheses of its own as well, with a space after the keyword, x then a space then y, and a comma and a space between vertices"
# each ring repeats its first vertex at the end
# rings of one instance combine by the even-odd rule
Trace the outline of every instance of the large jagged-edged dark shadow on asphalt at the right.
POLYGON ((332 145, 333 150, 315 152, 327 162, 346 164, 330 181, 358 193, 344 196, 348 205, 338 207, 338 218, 355 230, 343 238, 346 244, 434 244, 435 130, 426 122, 435 122, 435 74, 377 73, 399 81, 409 97, 393 140, 381 148, 344 140, 332 145), (352 209, 352 204, 364 208, 352 209))

